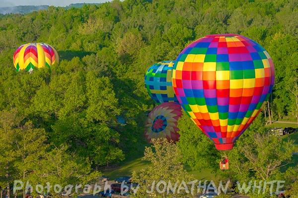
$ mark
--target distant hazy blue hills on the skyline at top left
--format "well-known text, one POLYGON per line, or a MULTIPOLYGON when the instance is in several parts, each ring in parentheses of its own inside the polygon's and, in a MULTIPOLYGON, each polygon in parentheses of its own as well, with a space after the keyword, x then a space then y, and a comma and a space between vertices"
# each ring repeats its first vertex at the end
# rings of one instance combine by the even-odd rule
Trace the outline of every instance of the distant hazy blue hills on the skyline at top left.
MULTIPOLYGON (((72 8, 72 7, 82 7, 84 4, 96 4, 99 5, 100 3, 72 3, 70 5, 65 6, 66 9, 72 8)), ((42 10, 42 9, 48 9, 49 5, 19 5, 19 6, 11 6, 11 7, 0 7, 0 14, 26 14, 29 12, 42 10)))

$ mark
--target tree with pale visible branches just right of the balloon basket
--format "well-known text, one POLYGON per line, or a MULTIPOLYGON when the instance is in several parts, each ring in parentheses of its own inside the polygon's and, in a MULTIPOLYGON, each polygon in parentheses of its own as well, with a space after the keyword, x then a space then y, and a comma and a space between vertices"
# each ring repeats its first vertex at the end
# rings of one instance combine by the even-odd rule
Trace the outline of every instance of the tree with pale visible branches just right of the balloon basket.
POLYGON ((252 169, 255 173, 251 178, 274 179, 280 168, 291 162, 294 151, 295 146, 291 141, 283 142, 280 138, 268 134, 254 134, 229 154, 231 164, 235 167, 231 170, 233 175, 242 175, 243 170, 252 169))

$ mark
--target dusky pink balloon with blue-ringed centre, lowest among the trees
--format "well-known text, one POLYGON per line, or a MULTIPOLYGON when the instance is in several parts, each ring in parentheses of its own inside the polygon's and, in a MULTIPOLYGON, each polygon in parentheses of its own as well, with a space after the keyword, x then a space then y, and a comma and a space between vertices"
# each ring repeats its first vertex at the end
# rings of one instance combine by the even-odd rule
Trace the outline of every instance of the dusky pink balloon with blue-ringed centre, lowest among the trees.
POLYGON ((156 106, 150 113, 146 123, 145 138, 151 143, 151 139, 166 138, 168 141, 177 142, 180 135, 177 121, 182 115, 180 104, 176 102, 164 102, 156 106))

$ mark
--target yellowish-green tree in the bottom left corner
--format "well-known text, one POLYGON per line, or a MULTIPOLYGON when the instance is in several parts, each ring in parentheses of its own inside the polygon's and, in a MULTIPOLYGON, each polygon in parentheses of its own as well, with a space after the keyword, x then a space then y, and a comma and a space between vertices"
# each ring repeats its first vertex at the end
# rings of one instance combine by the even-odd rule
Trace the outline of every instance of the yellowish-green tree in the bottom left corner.
MULTIPOLYGON (((3 153, 1 162, 6 170, 7 187, 11 182, 8 179, 12 175, 14 175, 14 179, 21 179, 26 183, 32 171, 39 168, 38 161, 48 148, 45 144, 45 131, 44 129, 35 129, 31 122, 22 124, 23 117, 18 116, 16 110, 1 112, 0 117, 2 136, 0 145, 3 153), (16 172, 10 174, 9 170, 16 172)), ((25 190, 23 190, 23 197, 25 198, 25 190)))

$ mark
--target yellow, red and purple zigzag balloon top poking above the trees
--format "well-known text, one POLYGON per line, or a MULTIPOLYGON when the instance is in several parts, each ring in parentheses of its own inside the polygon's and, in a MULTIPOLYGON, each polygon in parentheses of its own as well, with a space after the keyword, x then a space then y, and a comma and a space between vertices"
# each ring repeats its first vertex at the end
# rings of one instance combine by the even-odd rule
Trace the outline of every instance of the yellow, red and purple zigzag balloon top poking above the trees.
POLYGON ((35 67, 51 67, 59 62, 59 56, 52 46, 45 43, 29 43, 20 46, 13 54, 13 64, 17 71, 32 71, 35 67))

